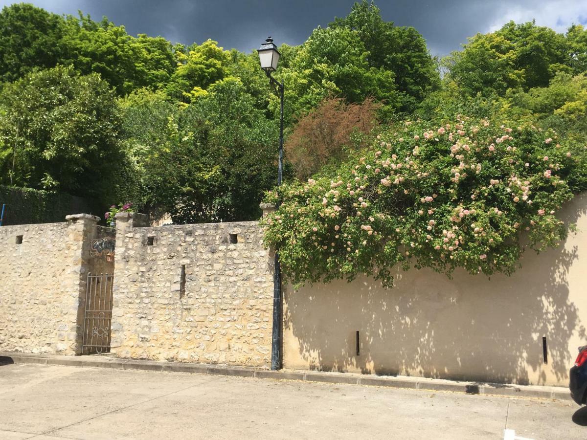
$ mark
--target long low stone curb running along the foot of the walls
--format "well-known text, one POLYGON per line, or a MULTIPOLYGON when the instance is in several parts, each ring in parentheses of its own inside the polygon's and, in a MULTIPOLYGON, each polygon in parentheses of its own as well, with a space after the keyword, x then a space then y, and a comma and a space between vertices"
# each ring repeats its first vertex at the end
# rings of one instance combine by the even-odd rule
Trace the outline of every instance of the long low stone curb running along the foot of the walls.
POLYGON ((66 367, 110 368, 114 370, 166 371, 168 373, 210 374, 251 377, 258 379, 299 380, 330 384, 369 385, 372 387, 411 388, 428 391, 451 391, 464 394, 499 395, 505 397, 542 398, 571 401, 563 387, 539 385, 487 384, 406 376, 377 376, 370 374, 330 373, 323 371, 261 370, 252 367, 156 362, 117 359, 100 356, 46 356, 41 354, 0 353, 0 365, 5 364, 63 365, 66 367))

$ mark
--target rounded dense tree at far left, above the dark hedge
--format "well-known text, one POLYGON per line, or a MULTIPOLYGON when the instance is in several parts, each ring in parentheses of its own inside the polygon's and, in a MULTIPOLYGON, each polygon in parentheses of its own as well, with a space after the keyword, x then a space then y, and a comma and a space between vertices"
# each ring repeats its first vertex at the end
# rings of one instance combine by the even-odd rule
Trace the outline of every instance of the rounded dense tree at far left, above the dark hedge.
POLYGON ((96 74, 71 67, 31 73, 0 93, 0 182, 107 198, 124 153, 119 110, 96 74), (10 153, 6 154, 7 151, 10 153))

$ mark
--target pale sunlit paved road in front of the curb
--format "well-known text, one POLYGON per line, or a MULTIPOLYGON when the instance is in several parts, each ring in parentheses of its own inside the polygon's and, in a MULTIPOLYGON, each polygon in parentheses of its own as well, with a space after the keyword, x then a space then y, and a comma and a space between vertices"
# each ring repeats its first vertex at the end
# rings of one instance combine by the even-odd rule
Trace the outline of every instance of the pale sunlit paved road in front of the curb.
POLYGON ((2 440, 502 439, 506 422, 525 438, 584 440, 587 408, 578 408, 364 385, 0 366, 2 440))

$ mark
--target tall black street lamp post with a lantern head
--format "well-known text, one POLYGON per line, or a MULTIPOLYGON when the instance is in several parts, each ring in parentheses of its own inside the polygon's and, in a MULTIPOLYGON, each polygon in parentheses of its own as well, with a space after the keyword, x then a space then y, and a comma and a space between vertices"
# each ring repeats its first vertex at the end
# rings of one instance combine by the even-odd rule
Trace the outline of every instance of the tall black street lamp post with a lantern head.
MULTIPOLYGON (((277 186, 281 185, 281 177, 283 172, 284 161, 284 83, 278 82, 271 76, 271 72, 277 69, 279 62, 279 50, 274 45, 273 39, 268 37, 261 48, 257 50, 259 53, 259 62, 261 69, 265 70, 269 82, 276 87, 279 92, 279 99, 281 100, 281 111, 279 114, 279 161, 277 168, 277 186)), ((277 206, 279 208, 279 201, 277 206)), ((275 249, 275 270, 273 276, 273 331, 271 338, 271 370, 281 370, 281 263, 279 262, 279 251, 275 249)))

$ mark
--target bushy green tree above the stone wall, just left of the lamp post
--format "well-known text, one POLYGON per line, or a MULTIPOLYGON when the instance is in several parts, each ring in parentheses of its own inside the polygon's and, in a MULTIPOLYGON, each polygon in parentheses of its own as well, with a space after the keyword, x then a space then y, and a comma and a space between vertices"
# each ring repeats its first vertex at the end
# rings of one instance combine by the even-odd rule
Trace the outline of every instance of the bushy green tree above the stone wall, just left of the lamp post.
POLYGON ((278 126, 241 81, 217 81, 175 113, 158 108, 147 120, 165 133, 144 165, 149 203, 178 223, 258 218, 262 193, 276 181, 278 126))

